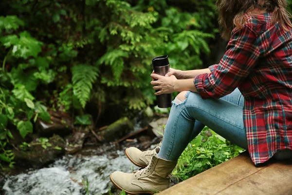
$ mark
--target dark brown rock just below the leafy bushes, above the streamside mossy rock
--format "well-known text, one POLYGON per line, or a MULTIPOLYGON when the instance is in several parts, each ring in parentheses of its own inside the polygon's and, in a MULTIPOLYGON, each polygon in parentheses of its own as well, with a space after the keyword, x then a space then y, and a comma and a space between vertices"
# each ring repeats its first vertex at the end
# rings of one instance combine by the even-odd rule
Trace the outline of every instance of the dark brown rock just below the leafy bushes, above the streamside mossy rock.
POLYGON ((67 113, 48 111, 52 122, 37 119, 36 129, 40 137, 51 137, 54 134, 66 136, 72 133, 73 120, 67 113))

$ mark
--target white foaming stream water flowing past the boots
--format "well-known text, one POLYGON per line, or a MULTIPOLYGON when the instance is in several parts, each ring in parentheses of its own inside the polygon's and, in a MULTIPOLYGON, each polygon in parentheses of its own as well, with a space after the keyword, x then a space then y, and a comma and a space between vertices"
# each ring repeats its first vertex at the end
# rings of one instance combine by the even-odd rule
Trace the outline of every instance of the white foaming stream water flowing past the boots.
MULTIPOLYGON (((92 154, 94 150, 90 149, 83 153, 92 154)), ((110 173, 116 170, 131 173, 133 169, 138 167, 131 164, 122 151, 111 153, 110 156, 84 154, 63 156, 46 168, 7 176, 2 194, 85 195, 82 179, 83 181, 88 179, 90 194, 102 195, 113 187, 109 179, 110 173)))

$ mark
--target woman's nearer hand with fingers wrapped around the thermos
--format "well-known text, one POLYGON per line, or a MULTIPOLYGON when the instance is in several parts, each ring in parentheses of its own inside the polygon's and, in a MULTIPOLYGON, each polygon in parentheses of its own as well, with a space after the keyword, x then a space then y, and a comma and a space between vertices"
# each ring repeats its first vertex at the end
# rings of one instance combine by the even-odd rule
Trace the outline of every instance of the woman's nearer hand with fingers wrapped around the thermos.
POLYGON ((151 81, 151 85, 154 85, 153 89, 160 90, 155 93, 156 96, 175 92, 176 81, 178 79, 174 75, 171 75, 170 77, 164 77, 153 73, 150 76, 153 79, 157 79, 151 81))

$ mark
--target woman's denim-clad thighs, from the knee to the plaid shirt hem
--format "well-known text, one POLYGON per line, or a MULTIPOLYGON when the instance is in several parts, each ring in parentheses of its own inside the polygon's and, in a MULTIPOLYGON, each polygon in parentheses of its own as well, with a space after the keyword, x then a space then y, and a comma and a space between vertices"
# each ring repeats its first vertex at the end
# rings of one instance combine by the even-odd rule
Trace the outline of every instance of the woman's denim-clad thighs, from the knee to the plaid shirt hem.
POLYGON ((197 93, 188 92, 184 104, 188 114, 232 143, 247 149, 243 124, 243 97, 239 90, 220 99, 202 99, 197 93))

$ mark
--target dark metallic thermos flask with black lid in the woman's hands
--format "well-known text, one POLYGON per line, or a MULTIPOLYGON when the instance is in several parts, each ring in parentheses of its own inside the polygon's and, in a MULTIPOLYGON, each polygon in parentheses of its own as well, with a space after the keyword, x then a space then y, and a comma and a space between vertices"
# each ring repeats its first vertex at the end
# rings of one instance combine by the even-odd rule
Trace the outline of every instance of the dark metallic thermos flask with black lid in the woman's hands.
MULTIPOLYGON (((152 59, 153 70, 155 74, 165 76, 169 72, 168 56, 158 56, 152 59)), ((155 90, 158 92, 159 90, 155 90)), ((171 107, 172 94, 161 94, 156 96, 157 105, 159 108, 171 107)))

